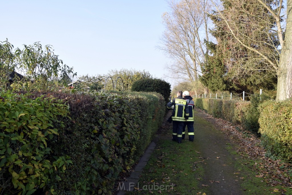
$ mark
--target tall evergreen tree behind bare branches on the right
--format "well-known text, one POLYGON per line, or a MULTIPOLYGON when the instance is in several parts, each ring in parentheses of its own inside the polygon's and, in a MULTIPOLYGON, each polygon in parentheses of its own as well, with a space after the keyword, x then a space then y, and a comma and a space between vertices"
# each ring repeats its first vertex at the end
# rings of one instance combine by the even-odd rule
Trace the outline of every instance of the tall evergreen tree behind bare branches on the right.
POLYGON ((213 56, 207 56, 201 80, 212 91, 275 89, 276 72, 269 67, 279 61, 279 39, 267 9, 257 1, 223 0, 223 10, 210 17, 217 44, 208 44, 213 56))

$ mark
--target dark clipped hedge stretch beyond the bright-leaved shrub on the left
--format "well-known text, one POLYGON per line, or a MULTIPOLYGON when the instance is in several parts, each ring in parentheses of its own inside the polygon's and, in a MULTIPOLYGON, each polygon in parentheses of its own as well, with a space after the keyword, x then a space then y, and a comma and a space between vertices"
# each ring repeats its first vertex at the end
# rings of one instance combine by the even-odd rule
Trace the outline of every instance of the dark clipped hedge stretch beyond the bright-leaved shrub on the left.
POLYGON ((161 125, 164 101, 156 93, 73 95, 72 120, 52 143, 73 165, 50 185, 58 194, 111 194, 119 173, 131 168, 161 125))

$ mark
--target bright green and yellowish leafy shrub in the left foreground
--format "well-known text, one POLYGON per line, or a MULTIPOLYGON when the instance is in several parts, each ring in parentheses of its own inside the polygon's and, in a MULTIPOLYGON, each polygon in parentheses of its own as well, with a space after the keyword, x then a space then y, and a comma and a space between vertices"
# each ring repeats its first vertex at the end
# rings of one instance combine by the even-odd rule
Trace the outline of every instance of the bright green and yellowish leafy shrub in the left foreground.
MULTIPOLYGON (((0 92, 0 194, 32 194, 44 187, 55 171, 72 163, 68 156, 52 155, 47 146, 58 130, 53 125, 68 117, 68 106, 51 98, 27 98, 0 92)), ((59 125, 64 127, 63 122, 59 125)), ((48 189, 51 192, 53 188, 48 189)))

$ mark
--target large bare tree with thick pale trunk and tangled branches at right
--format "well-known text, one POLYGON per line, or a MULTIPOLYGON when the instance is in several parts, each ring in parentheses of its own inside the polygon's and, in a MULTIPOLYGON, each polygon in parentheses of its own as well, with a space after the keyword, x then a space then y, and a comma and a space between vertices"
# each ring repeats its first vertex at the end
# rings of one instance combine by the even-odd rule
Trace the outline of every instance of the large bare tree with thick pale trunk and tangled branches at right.
POLYGON ((231 48, 229 56, 233 56, 226 58, 228 68, 237 77, 259 71, 277 75, 277 100, 292 97, 291 0, 287 1, 285 40, 282 0, 232 0, 227 3, 232 4, 228 13, 214 3, 217 10, 212 17, 222 22, 221 32, 218 32, 226 35, 222 41, 230 43, 225 44, 231 48))

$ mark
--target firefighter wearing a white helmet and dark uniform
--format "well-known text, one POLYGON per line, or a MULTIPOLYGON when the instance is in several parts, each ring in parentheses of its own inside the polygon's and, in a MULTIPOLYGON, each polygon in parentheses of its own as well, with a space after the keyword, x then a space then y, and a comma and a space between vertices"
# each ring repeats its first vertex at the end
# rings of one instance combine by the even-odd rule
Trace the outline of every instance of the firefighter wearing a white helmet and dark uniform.
POLYGON ((185 127, 187 127, 187 133, 189 135, 189 140, 194 141, 194 101, 190 96, 188 91, 183 92, 183 99, 187 100, 187 106, 189 108, 189 118, 185 120, 183 125, 183 137, 185 139, 185 127))

